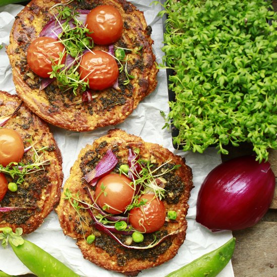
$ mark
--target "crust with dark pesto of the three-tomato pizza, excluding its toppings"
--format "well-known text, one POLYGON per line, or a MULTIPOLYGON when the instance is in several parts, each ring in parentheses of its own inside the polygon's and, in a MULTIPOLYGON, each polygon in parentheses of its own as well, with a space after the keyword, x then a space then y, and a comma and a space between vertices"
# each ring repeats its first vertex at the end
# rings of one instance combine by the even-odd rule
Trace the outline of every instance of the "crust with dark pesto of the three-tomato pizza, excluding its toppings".
MULTIPOLYGON (((7 53, 12 65, 13 79, 19 97, 39 117, 45 121, 70 130, 90 131, 98 127, 115 125, 122 122, 136 108, 138 103, 153 92, 157 86, 158 70, 152 51, 151 27, 147 26, 143 12, 125 0, 84 0, 73 2, 72 7, 93 9, 99 5, 111 5, 118 9, 123 18, 122 37, 115 46, 134 49, 143 47, 136 53, 127 51, 128 73, 134 76, 128 85, 124 73, 119 74, 119 88, 108 88, 93 92, 97 95, 90 102, 74 104, 82 99, 71 91, 60 91, 56 81, 39 91, 40 79, 27 64, 29 44, 52 17, 49 9, 65 0, 32 0, 17 16, 10 35, 7 53)), ((52 10, 51 13, 55 13, 52 10)), ((108 46, 96 45, 94 50, 108 51, 108 46)), ((123 63, 124 65, 125 63, 123 63)))

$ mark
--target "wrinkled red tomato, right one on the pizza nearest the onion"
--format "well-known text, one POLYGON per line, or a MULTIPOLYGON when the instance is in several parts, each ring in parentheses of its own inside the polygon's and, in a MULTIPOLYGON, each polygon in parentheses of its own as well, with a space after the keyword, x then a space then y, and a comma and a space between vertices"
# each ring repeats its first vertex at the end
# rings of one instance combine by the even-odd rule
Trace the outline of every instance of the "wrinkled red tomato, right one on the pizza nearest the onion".
POLYGON ((129 223, 142 233, 158 231, 165 223, 166 210, 164 203, 155 194, 144 194, 138 201, 146 199, 145 205, 132 209, 129 213, 129 223))

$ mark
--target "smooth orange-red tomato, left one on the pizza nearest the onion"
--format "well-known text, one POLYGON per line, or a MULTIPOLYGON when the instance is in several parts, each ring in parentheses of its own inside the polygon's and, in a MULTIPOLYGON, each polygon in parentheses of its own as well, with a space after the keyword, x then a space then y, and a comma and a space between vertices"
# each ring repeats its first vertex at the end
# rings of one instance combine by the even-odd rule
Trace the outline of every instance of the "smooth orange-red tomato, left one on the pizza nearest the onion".
POLYGON ((106 207, 105 212, 121 214, 131 203, 134 190, 129 185, 131 180, 124 175, 107 174, 98 180, 95 197, 99 206, 106 207))

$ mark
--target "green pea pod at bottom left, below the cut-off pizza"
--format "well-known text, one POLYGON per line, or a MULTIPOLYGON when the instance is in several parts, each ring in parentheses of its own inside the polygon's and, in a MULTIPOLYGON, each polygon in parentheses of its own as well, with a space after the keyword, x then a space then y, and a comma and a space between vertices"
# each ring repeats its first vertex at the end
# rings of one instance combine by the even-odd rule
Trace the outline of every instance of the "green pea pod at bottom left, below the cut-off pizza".
POLYGON ((24 240, 24 243, 18 246, 13 245, 10 239, 9 242, 18 258, 38 277, 80 277, 30 241, 24 240))

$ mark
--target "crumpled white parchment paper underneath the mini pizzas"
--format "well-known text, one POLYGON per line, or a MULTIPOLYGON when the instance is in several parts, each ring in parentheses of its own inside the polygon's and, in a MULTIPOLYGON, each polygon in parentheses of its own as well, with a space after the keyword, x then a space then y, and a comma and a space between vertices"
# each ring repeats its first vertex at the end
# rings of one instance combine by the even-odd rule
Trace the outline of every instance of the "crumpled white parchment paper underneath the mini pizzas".
MULTIPOLYGON (((159 5, 150 6, 151 1, 148 0, 131 2, 139 10, 144 11, 148 25, 152 26, 152 38, 155 41, 153 46, 154 53, 156 54, 157 62, 160 63, 163 56, 163 52, 161 51, 161 47, 163 46, 163 28, 162 20, 157 18, 157 14, 161 10, 161 7, 159 5)), ((8 91, 12 94, 16 94, 16 91, 5 46, 9 44, 9 35, 14 17, 22 9, 23 6, 21 5, 0 7, 0 44, 4 46, 0 50, 0 90, 8 91)), ((213 148, 208 149, 204 154, 184 153, 173 148, 169 130, 162 130, 165 122, 160 115, 160 110, 166 113, 168 112, 167 102, 166 72, 161 70, 158 74, 157 89, 145 98, 122 124, 116 126, 128 133, 141 136, 147 142, 158 143, 173 153, 185 157, 187 164, 192 168, 193 172, 193 183, 195 187, 191 191, 189 200, 190 208, 187 216, 188 229, 184 244, 180 247, 178 254, 173 259, 158 267, 144 270, 138 276, 165 276, 204 253, 218 248, 232 237, 231 232, 213 234, 195 222, 195 205, 199 187, 207 173, 221 163, 221 157, 213 148)), ((50 126, 50 128, 62 153, 65 180, 68 178, 70 168, 77 159, 80 150, 87 144, 92 144, 96 138, 106 134, 107 130, 113 127, 100 128, 92 132, 84 133, 67 131, 55 126, 50 126)), ((35 232, 26 235, 24 238, 37 244, 81 276, 122 276, 119 273, 102 269, 85 260, 81 251, 76 246, 75 241, 63 235, 55 212, 52 212, 35 232)), ((31 273, 16 257, 11 247, 3 249, 1 246, 0 270, 13 275, 31 273)), ((229 262, 218 276, 234 276, 231 262, 229 262)))

